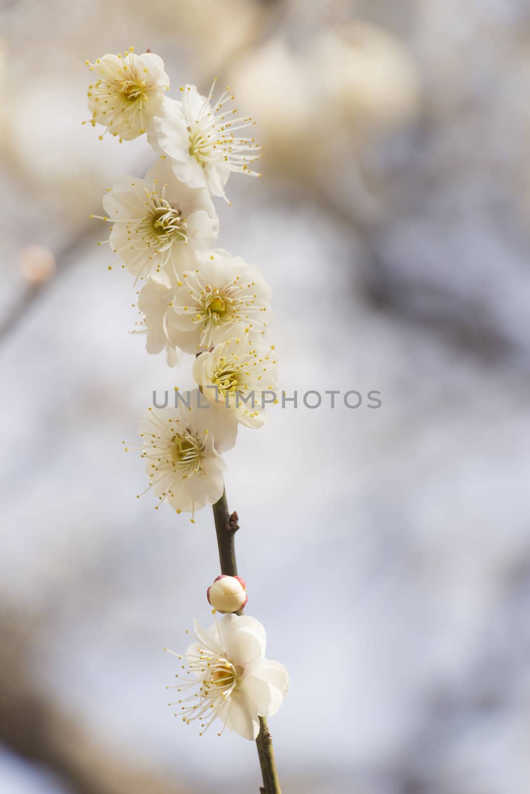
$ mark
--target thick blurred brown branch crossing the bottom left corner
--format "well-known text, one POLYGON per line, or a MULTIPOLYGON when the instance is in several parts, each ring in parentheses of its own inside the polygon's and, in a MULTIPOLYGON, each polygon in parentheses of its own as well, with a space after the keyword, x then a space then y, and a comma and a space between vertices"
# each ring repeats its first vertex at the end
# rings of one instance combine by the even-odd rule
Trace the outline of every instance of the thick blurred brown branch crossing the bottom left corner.
POLYGON ((182 788, 107 748, 41 688, 26 659, 29 619, 0 619, 0 742, 48 767, 76 794, 184 794, 182 788))

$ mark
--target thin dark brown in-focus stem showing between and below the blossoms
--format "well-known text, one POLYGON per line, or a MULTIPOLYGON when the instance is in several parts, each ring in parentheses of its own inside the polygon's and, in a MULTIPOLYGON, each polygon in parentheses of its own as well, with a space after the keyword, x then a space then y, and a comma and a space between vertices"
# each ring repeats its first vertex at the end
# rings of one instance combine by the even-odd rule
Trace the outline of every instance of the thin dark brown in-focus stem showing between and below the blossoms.
MULTIPOLYGON (((235 511, 230 514, 225 490, 222 491, 221 499, 212 507, 221 573, 226 574, 226 576, 237 576, 238 564, 235 559, 234 535, 239 529, 238 514, 235 511)), ((236 613, 236 615, 242 614, 242 610, 236 613)), ((260 732, 257 734, 256 746, 261 766, 261 777, 263 778, 263 787, 260 787, 260 792, 263 792, 263 794, 281 794, 276 761, 274 760, 273 739, 269 733, 265 717, 260 717, 259 720, 260 732)))

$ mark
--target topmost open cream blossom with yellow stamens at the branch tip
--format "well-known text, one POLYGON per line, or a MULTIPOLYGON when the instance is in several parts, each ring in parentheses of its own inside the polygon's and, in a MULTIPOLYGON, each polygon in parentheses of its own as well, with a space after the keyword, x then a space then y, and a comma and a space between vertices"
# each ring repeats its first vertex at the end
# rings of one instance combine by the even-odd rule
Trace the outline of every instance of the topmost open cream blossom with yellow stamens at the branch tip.
POLYGON ((87 94, 91 125, 102 124, 105 132, 119 135, 120 142, 145 133, 169 88, 161 57, 153 52, 134 55, 131 47, 124 55, 104 55, 94 64, 86 63, 97 75, 87 94))

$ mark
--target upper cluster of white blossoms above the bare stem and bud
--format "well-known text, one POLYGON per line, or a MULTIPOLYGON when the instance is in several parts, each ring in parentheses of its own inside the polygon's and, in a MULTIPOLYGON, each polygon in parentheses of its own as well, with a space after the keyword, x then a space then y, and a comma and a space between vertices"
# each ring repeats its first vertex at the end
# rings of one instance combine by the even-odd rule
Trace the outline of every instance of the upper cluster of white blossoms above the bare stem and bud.
MULTIPOLYGON (((252 118, 231 108, 230 88, 215 99, 195 86, 169 98, 164 63, 152 52, 87 61, 92 126, 130 141, 146 135, 158 155, 145 176, 118 179, 103 197, 108 243, 140 282, 137 306, 148 353, 165 352, 169 366, 195 356, 192 375, 210 410, 148 410, 141 422, 146 490, 177 513, 222 496, 225 462, 240 424, 258 428, 277 392, 274 346, 265 341, 273 316, 271 290, 259 268, 215 247, 219 218, 212 198, 226 198, 232 172, 261 176, 261 147, 245 134, 252 118)), ((87 122, 84 122, 87 123, 87 122)), ((230 202, 229 202, 230 203, 230 202)), ((110 265, 112 268, 112 265, 110 265)))

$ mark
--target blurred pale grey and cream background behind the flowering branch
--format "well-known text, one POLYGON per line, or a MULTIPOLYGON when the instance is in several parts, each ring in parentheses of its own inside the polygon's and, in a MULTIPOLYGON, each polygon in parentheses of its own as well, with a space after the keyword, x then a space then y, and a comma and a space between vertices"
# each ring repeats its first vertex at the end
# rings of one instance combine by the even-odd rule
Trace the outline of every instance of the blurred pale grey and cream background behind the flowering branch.
POLYGON ((276 410, 227 455, 248 611, 292 689, 285 794, 530 790, 530 2, 4 0, 0 8, 2 794, 256 792, 252 742, 174 719, 219 562, 125 455, 153 389, 91 212, 145 140, 100 142, 84 66, 150 47, 230 83, 263 179, 219 245, 273 287, 276 410), (32 246, 40 246, 35 249, 32 246))

